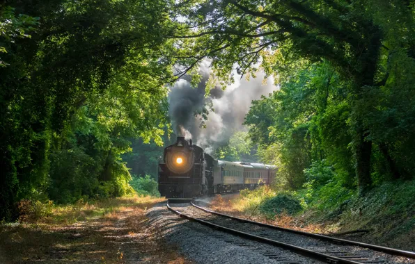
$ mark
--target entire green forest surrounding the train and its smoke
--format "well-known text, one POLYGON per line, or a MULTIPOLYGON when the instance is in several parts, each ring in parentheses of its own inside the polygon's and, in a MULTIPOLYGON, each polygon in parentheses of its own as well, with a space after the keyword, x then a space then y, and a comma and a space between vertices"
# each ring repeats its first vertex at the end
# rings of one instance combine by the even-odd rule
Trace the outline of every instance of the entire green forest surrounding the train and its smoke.
MULTIPOLYGON (((412 0, 0 5, 0 220, 16 220, 24 200, 155 189, 179 132, 169 93, 183 79, 196 89, 206 62, 205 98, 235 76, 277 87, 216 158, 274 164, 274 188, 333 196, 414 179, 412 0)), ((215 110, 209 99, 196 108, 202 129, 215 110)))

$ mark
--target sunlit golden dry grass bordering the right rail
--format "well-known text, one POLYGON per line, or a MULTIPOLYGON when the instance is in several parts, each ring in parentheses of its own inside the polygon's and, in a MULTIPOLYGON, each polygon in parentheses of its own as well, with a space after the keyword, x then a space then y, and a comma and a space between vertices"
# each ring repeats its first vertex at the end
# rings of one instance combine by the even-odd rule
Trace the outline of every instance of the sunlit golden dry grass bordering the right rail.
POLYGON ((238 194, 228 195, 226 197, 217 195, 212 200, 210 209, 247 220, 281 226, 286 229, 295 229, 310 233, 329 233, 324 224, 306 223, 304 215, 293 217, 287 213, 281 213, 275 215, 274 219, 269 219, 265 217, 265 215, 261 215, 258 210, 256 210, 256 206, 252 206, 252 204, 258 205, 260 203, 260 197, 255 197, 255 199, 258 199, 258 201, 252 201, 251 198, 240 197, 238 194))

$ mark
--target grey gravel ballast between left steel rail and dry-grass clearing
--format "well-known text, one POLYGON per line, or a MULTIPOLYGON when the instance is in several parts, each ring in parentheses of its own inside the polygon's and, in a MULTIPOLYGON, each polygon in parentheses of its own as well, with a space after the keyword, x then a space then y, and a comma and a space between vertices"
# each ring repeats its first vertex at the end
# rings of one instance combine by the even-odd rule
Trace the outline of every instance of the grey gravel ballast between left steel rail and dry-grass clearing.
MULTIPOLYGON (((172 204, 190 208, 189 204, 172 204)), ((167 210, 166 203, 150 208, 149 224, 180 253, 195 263, 321 263, 291 251, 239 238, 184 220, 167 210)))

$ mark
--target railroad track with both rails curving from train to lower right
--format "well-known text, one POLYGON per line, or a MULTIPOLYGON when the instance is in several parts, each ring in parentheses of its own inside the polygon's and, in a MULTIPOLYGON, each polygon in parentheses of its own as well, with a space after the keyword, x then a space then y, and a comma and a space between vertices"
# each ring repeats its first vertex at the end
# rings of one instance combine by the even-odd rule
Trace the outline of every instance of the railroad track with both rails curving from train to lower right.
MULTIPOLYGON (((187 207, 170 206, 169 203, 167 207, 173 213, 187 220, 198 222, 234 236, 248 240, 256 240, 261 242, 261 244, 288 249, 297 254, 326 263, 415 263, 415 252, 411 251, 402 251, 292 229, 284 229, 279 226, 253 222, 210 211, 201 206, 197 206, 193 202, 187 207)), ((233 239, 225 234, 215 236, 224 239, 226 242, 233 242, 233 239)), ((238 240, 236 245, 238 244, 239 246, 246 246, 252 249, 251 245, 240 242, 240 240, 238 240)), ((276 261, 293 263, 288 259, 281 258, 280 254, 273 251, 264 251, 262 247, 258 247, 258 250, 264 256, 276 261)))

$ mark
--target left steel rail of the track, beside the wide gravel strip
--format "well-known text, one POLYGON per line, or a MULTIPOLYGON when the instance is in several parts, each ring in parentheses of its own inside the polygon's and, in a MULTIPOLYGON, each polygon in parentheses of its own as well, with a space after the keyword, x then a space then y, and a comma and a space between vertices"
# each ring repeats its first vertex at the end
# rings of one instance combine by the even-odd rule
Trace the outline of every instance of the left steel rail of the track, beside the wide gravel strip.
POLYGON ((256 235, 252 235, 251 233, 246 233, 246 232, 242 232, 242 231, 238 231, 236 229, 230 229, 228 227, 225 226, 220 226, 219 224, 213 224, 210 222, 206 222, 204 220, 195 218, 195 217, 191 217, 189 215, 185 215, 183 213, 180 213, 179 211, 174 210, 173 208, 170 207, 169 202, 167 202, 167 208, 169 208, 170 211, 172 211, 173 213, 175 213, 176 215, 178 215, 179 217, 185 218, 189 221, 193 221, 193 222, 198 222, 199 224, 203 224, 205 226, 209 226, 212 229, 216 229, 219 231, 224 231, 226 233, 230 233, 232 235, 235 236, 240 236, 242 238, 248 238, 250 240, 256 240, 258 242, 263 242, 265 244, 268 245, 273 245, 276 247, 282 247, 284 249, 289 249, 290 251, 294 251, 298 254, 301 254, 303 256, 308 256, 310 258, 315 258, 319 261, 324 261, 327 263, 336 263, 336 264, 363 264, 361 262, 357 262, 357 261, 349 261, 347 259, 344 258, 338 258, 336 256, 330 256, 330 255, 326 255, 326 254, 322 254, 320 252, 317 251, 313 251, 310 249, 304 249, 303 247, 297 247, 295 245, 290 245, 284 242, 280 242, 277 240, 272 240, 269 238, 263 238, 261 236, 256 236, 256 235))

